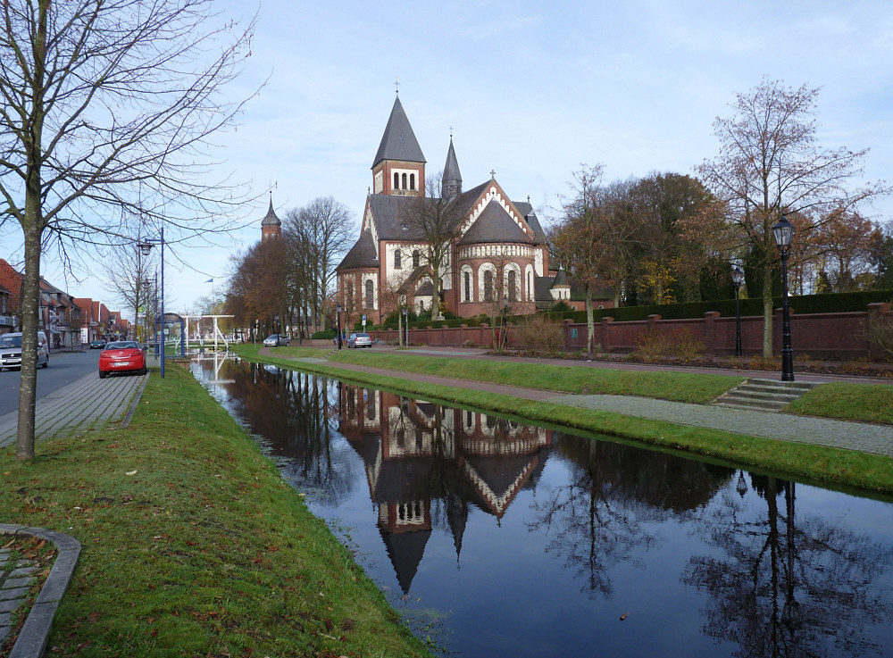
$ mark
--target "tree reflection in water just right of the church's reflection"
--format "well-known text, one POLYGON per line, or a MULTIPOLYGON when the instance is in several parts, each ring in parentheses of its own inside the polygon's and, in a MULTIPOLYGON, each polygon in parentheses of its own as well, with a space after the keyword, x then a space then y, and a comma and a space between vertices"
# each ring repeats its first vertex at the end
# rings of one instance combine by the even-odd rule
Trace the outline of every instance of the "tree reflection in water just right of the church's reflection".
POLYGON ((610 596, 613 567, 638 564, 654 546, 647 523, 705 504, 733 472, 580 437, 562 437, 555 452, 569 462, 570 482, 534 505, 529 529, 554 537, 547 552, 565 556, 589 596, 610 596))

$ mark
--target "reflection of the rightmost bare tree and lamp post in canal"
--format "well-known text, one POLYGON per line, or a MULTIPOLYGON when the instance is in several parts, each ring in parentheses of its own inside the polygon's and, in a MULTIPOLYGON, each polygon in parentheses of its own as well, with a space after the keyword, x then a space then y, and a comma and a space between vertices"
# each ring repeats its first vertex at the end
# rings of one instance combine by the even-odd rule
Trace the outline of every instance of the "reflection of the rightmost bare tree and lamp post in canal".
POLYGON ((890 547, 802 509, 797 516, 793 483, 751 481, 764 518, 727 493, 698 520, 706 543, 722 551, 692 557, 682 577, 711 596, 705 633, 738 643, 735 655, 747 658, 883 655, 865 631, 893 613, 878 584, 889 584, 890 547))

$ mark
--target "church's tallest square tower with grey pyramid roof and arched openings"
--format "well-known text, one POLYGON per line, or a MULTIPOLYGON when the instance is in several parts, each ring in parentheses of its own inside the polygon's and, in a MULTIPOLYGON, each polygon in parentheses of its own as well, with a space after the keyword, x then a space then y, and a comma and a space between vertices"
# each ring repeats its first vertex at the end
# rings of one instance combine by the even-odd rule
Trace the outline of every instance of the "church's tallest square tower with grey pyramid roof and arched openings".
POLYGON ((372 193, 425 196, 425 156, 409 124, 400 96, 372 161, 372 193))

